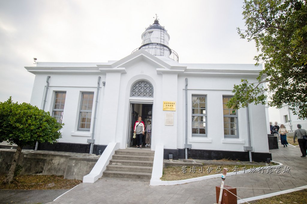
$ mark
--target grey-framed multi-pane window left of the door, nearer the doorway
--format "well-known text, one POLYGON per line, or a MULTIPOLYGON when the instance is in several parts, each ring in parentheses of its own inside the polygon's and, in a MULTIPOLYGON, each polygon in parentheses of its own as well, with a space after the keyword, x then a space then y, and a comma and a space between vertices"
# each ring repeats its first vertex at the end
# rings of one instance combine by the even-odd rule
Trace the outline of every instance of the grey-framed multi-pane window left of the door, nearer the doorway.
POLYGON ((78 130, 89 131, 91 128, 93 98, 94 93, 82 93, 78 130))

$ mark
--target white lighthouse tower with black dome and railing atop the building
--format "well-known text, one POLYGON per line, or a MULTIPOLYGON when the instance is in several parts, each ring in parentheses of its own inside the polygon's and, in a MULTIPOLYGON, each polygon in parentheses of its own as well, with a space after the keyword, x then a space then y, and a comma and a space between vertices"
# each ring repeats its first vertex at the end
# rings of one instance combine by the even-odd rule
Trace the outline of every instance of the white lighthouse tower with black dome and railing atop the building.
POLYGON ((153 24, 146 28, 141 38, 142 45, 132 53, 139 49, 143 49, 152 55, 165 56, 178 62, 178 54, 169 48, 169 34, 164 26, 159 24, 158 19, 155 19, 153 24))

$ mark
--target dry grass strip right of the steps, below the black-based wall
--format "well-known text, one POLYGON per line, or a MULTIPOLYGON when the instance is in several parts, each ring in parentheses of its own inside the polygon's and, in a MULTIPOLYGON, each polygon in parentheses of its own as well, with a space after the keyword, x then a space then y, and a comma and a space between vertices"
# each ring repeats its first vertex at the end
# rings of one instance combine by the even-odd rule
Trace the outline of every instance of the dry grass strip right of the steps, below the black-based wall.
MULTIPOLYGON (((274 165, 274 164, 273 164, 274 165)), ((227 168, 229 169, 228 172, 233 172, 234 167, 237 167, 240 170, 242 170, 243 167, 246 167, 246 169, 251 169, 253 166, 247 166, 247 165, 204 165, 202 168, 201 172, 201 167, 195 167, 196 171, 190 172, 191 171, 191 166, 187 166, 186 173, 182 172, 182 167, 173 167, 173 166, 168 166, 166 168, 163 168, 163 174, 161 177, 161 180, 163 181, 173 181, 173 180, 184 180, 184 179, 191 179, 191 178, 196 178, 200 176, 208 176, 208 175, 213 175, 217 174, 216 169, 220 167, 221 169, 227 168), (208 168, 212 168, 210 172, 207 171, 208 168)), ((259 167, 265 167, 266 165, 260 165, 260 166, 255 166, 256 170, 259 167)), ((246 172, 249 172, 249 170, 246 170, 246 172)), ((218 173, 222 173, 218 172, 218 173)), ((264 173, 266 173, 266 168, 264 169, 264 173)))

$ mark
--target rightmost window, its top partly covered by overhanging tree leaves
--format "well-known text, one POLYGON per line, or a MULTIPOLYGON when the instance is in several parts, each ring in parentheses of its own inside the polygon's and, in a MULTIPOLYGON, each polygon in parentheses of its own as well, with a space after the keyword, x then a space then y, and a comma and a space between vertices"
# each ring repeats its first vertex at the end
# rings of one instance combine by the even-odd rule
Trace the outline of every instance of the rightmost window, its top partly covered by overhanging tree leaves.
POLYGON ((224 137, 238 138, 238 110, 229 109, 226 103, 231 96, 223 96, 224 137))

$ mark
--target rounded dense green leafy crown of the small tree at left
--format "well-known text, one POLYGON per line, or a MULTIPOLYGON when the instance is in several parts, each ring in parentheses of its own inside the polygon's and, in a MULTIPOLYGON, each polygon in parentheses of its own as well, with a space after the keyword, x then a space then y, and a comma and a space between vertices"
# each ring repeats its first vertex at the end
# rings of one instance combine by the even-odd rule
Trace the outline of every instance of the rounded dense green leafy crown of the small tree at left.
POLYGON ((0 142, 8 140, 18 146, 54 143, 61 138, 60 124, 55 118, 29 103, 14 103, 12 97, 0 102, 0 142))

